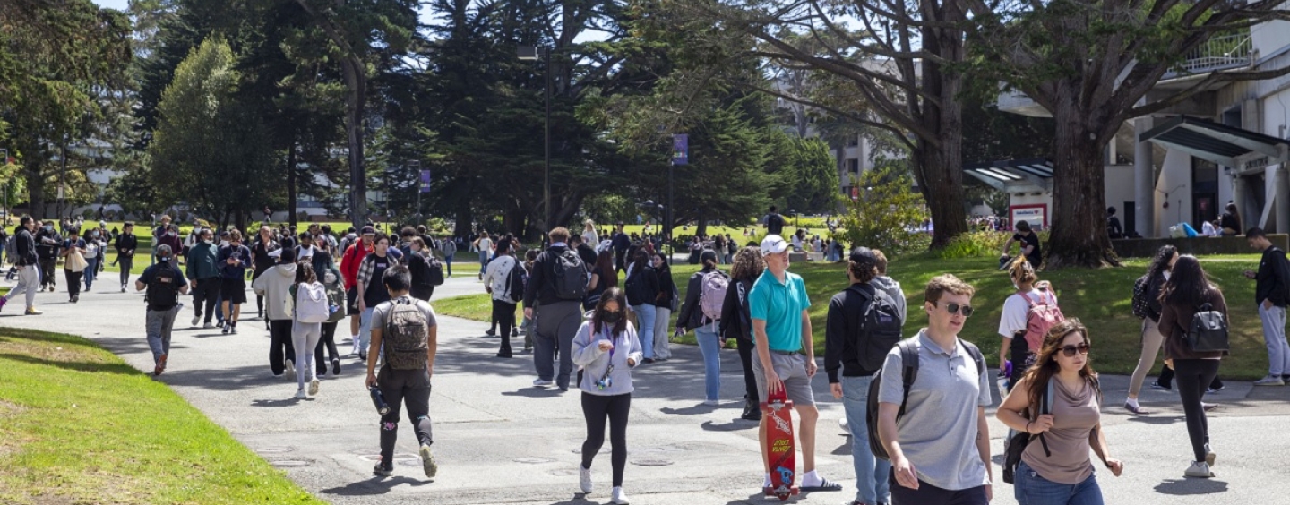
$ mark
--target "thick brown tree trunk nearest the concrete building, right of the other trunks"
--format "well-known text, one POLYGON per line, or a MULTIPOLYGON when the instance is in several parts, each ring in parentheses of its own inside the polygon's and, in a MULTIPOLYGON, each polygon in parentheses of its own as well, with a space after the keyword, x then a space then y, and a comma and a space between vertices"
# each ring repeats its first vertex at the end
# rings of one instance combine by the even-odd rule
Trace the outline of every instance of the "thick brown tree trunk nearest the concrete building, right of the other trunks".
POLYGON ((1058 104, 1055 157, 1053 160, 1051 231, 1044 245, 1045 269, 1064 267, 1118 267, 1111 249, 1106 218, 1107 140, 1080 124, 1075 104, 1058 104))

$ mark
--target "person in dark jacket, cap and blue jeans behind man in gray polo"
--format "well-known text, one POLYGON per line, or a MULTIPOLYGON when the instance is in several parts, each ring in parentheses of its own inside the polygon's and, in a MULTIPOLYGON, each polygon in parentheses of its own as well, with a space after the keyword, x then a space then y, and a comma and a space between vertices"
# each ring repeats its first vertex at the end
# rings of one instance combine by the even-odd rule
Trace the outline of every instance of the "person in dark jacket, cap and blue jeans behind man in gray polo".
POLYGON ((866 415, 873 374, 900 340, 904 319, 899 317, 895 300, 873 285, 877 263, 878 256, 867 247, 851 251, 846 268, 850 286, 829 300, 824 332, 828 388, 833 399, 842 401, 851 433, 855 500, 850 505, 885 504, 890 493, 891 464, 871 452, 866 415), (873 317, 867 318, 868 314, 873 317))

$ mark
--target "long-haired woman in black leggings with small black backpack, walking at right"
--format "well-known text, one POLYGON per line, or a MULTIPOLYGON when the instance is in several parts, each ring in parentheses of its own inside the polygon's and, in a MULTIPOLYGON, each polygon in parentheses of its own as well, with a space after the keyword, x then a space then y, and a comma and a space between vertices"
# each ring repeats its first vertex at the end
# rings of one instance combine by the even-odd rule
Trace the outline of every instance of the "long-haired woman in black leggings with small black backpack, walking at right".
POLYGON ((1174 273, 1165 282, 1160 295, 1160 332, 1165 335, 1165 363, 1174 367, 1178 393, 1187 416, 1187 434, 1192 442, 1191 466, 1184 475, 1210 478, 1214 473, 1214 451, 1210 450, 1209 421, 1205 416, 1205 386, 1218 375, 1224 352, 1195 352, 1187 343, 1187 332, 1198 307, 1210 304, 1227 316, 1227 301, 1218 286, 1209 281, 1201 263, 1191 255, 1179 256, 1174 273))

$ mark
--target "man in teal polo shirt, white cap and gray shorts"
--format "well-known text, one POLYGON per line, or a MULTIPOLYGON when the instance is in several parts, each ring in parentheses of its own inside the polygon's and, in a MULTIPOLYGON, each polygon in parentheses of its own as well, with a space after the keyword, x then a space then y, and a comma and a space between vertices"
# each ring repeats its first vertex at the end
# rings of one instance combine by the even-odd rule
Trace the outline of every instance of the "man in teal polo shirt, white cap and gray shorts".
MULTIPOLYGON (((815 474, 815 421, 819 410, 810 389, 815 376, 815 350, 810 334, 810 299, 801 276, 788 272, 788 242, 778 234, 761 241, 766 269, 748 292, 752 334, 757 340, 757 358, 752 375, 757 388, 770 394, 784 390, 801 417, 799 447, 802 451, 802 491, 841 491, 842 486, 815 474)), ((769 397, 769 394, 768 394, 769 397)), ((768 466, 766 417, 761 419, 757 438, 761 442, 762 468, 768 466)), ((762 487, 770 486, 770 474, 762 487)))

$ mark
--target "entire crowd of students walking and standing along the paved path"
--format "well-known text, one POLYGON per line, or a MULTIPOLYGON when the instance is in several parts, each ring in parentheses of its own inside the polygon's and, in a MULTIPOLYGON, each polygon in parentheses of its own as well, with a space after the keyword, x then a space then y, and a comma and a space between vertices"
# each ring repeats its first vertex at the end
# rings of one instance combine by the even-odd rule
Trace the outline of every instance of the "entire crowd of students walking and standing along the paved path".
MULTIPOLYGON (((326 365, 333 374, 341 371, 334 331, 350 317, 353 353, 366 362, 366 383, 374 395, 379 392, 392 405, 382 416, 382 460, 374 472, 392 472, 399 411, 405 405, 426 474, 435 475, 428 395, 437 331, 427 301, 442 282, 444 267, 431 254, 432 237, 404 228, 392 246, 391 237, 373 227, 337 241, 325 228, 310 227, 297 238, 275 236, 266 225, 248 247, 239 231, 227 237, 221 233, 217 242, 214 231, 203 228, 192 245, 177 249, 169 243, 166 222, 157 231, 156 264, 135 282, 135 289, 147 291, 147 338, 156 375, 165 370, 170 330, 183 307, 178 295, 191 291, 194 326, 204 316, 210 327, 214 314, 223 331, 236 332, 250 276, 259 316, 272 338, 272 374, 294 376, 297 398, 317 394, 317 377, 325 375, 326 365), (175 250, 184 251, 183 271, 175 264, 175 250), (339 268, 333 255, 341 258, 339 268), (330 361, 322 358, 328 352, 330 361), (369 353, 381 353, 379 372, 378 359, 368 359, 369 353)), ((1124 464, 1112 456, 1100 428, 1102 389, 1089 365, 1094 335, 1062 313, 1057 289, 1036 273, 1038 242, 1024 222, 1017 228, 1004 254, 1013 242, 1020 242, 1020 254, 1001 262, 1017 289, 1002 300, 998 323, 1002 340, 995 377, 1004 398, 996 416, 1011 430, 1002 477, 1022 504, 1100 504, 1099 465, 1118 477, 1124 464)), ((0 308, 26 296, 28 313, 34 310, 44 272, 37 229, 37 222, 22 219, 12 252, 18 286, 0 298, 0 308)), ((129 236, 126 223, 121 237, 129 236)), ((121 237, 116 247, 124 258, 137 242, 121 237)), ((646 246, 628 254, 633 245, 622 225, 604 241, 600 237, 591 222, 583 234, 555 228, 548 246, 528 251, 524 260, 516 256, 517 242, 510 236, 494 240, 485 233, 471 245, 480 251, 480 276, 501 326, 498 357, 512 357, 510 339, 522 303, 537 375, 533 385, 564 392, 574 384, 582 394, 587 437, 580 490, 593 492, 591 466, 608 423, 610 501, 627 502, 631 370, 670 357, 667 325, 673 310, 679 310, 673 335, 695 331, 703 354, 704 403, 720 401, 720 349, 730 339, 738 343, 746 384, 743 417, 760 420, 768 469, 764 487, 771 484, 764 442, 768 430, 777 428, 761 419, 759 403, 764 394, 784 392, 800 417, 804 473, 797 482, 805 491, 841 490, 815 470, 819 412, 811 388, 818 372, 811 303, 804 280, 789 272, 792 243, 770 234, 760 246, 742 247, 730 258, 729 274, 720 268, 721 252, 703 250, 703 267, 685 282, 682 296, 663 255, 646 246), (624 238, 627 247, 619 250, 624 238), (619 269, 626 269, 622 287, 619 269)), ((89 233, 89 238, 98 237, 89 233)), ((1246 238, 1263 252, 1259 269, 1245 274, 1256 282, 1255 303, 1269 356, 1268 376, 1255 384, 1284 385, 1290 379, 1285 339, 1290 263, 1260 229, 1247 231, 1246 238)), ((84 256, 93 249, 81 241, 64 243, 72 252, 63 256, 84 256)), ((123 271, 123 280, 128 278, 129 263, 123 271)), ((888 274, 882 251, 853 249, 845 274, 849 287, 828 305, 823 363, 829 392, 842 401, 853 435, 857 495, 850 504, 987 504, 995 492, 986 423, 986 407, 995 402, 991 368, 974 344, 958 338, 975 312, 974 287, 953 274, 937 276, 922 290, 922 304, 911 310, 900 283, 888 274), (911 312, 922 312, 928 322, 908 336, 911 312)), ((1186 477, 1214 477, 1216 456, 1205 414, 1211 406, 1202 399, 1222 389, 1215 380, 1227 353, 1227 307, 1201 263, 1171 246, 1158 251, 1134 286, 1134 314, 1143 319, 1142 356, 1125 408, 1147 414, 1138 393, 1162 349, 1187 419, 1192 455, 1186 477)))

